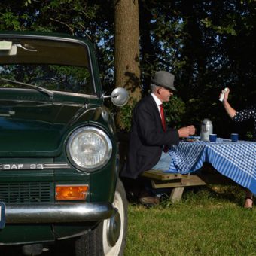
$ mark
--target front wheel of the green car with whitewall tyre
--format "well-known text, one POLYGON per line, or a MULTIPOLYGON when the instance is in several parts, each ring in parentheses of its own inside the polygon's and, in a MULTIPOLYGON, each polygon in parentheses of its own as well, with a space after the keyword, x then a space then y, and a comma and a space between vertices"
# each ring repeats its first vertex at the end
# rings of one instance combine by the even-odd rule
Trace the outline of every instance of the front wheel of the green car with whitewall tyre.
POLYGON ((127 200, 123 184, 117 180, 114 215, 75 241, 76 256, 123 255, 127 232, 127 200))

